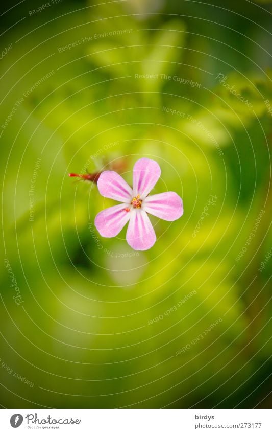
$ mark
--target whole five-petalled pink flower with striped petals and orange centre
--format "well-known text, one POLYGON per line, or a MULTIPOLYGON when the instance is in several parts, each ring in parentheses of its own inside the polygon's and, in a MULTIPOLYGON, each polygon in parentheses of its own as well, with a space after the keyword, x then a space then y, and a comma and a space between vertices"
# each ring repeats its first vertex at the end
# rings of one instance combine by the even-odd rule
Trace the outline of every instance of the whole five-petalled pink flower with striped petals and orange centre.
POLYGON ((135 250, 147 250, 156 241, 156 234, 147 214, 173 221, 183 214, 180 196, 172 191, 149 196, 161 175, 156 161, 140 158, 133 168, 133 189, 116 172, 102 172, 97 187, 104 197, 121 202, 106 208, 95 217, 95 226, 102 237, 115 237, 129 221, 128 244, 135 250))

